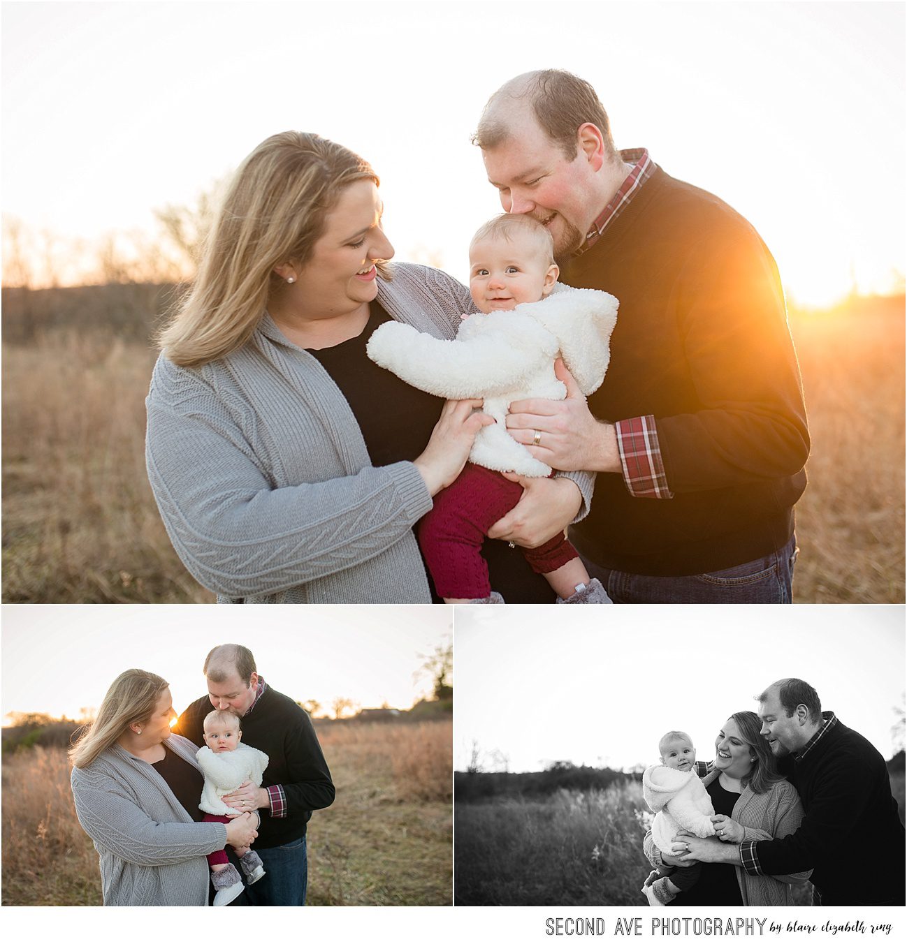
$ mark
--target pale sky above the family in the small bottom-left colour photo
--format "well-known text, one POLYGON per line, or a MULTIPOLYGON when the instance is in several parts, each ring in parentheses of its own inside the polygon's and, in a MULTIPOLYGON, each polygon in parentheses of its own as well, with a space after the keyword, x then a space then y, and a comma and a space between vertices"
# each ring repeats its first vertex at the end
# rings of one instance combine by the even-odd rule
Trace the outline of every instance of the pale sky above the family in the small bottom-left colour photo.
POLYGON ((127 668, 170 683, 182 711, 205 694, 201 674, 221 643, 252 650, 268 684, 294 700, 334 698, 409 708, 429 695, 425 658, 451 638, 441 606, 4 606, 3 715, 77 717, 127 668))

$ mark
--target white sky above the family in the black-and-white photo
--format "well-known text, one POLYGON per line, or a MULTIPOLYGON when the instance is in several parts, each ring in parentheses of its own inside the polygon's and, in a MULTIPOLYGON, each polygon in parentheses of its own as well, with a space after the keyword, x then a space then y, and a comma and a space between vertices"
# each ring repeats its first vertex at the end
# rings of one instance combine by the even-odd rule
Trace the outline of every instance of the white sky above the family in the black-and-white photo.
POLYGON ((615 606, 604 617, 578 607, 556 626, 543 609, 457 611, 455 769, 473 740, 486 763, 502 751, 511 771, 654 764, 672 729, 710 760, 727 717, 758 710, 752 697, 785 677, 805 679, 823 709, 894 753, 903 607, 615 606))

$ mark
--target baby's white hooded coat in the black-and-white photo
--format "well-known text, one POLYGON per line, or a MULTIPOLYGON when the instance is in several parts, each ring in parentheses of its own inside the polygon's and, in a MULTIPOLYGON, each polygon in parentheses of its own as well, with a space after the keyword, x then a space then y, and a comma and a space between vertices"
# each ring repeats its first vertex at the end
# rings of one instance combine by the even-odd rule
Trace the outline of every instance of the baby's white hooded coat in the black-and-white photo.
POLYGON ((715 808, 695 770, 675 770, 660 764, 646 767, 642 797, 656 814, 652 839, 660 851, 671 855, 673 838, 682 829, 702 839, 715 834, 710 820, 715 808))

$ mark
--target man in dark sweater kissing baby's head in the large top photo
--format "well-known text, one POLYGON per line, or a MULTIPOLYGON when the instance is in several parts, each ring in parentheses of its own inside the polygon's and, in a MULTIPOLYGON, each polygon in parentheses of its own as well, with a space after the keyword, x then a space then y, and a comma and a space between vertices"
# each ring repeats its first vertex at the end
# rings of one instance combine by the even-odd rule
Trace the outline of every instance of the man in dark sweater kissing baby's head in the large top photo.
MULTIPOLYGON (((778 269, 712 194, 618 151, 588 82, 517 76, 474 142, 505 211, 550 229, 564 282, 620 302, 589 401, 512 403, 511 435, 557 469, 600 473, 570 532, 614 602, 789 603, 809 452, 778 269)), ((717 162, 720 155, 710 160, 717 162)), ((518 505, 491 537, 534 545, 518 505)))

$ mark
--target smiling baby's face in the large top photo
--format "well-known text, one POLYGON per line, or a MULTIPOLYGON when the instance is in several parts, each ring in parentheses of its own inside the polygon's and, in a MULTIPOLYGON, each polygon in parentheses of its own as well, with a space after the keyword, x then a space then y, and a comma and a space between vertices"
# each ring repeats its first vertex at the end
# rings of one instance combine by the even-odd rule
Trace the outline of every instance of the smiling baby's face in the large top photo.
POLYGON ((537 239, 488 237, 471 245, 470 293, 480 312, 509 312, 524 301, 539 301, 556 281, 557 266, 537 239))

